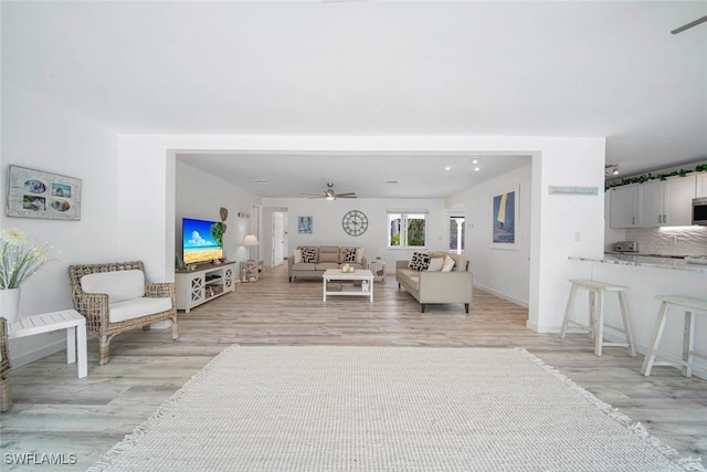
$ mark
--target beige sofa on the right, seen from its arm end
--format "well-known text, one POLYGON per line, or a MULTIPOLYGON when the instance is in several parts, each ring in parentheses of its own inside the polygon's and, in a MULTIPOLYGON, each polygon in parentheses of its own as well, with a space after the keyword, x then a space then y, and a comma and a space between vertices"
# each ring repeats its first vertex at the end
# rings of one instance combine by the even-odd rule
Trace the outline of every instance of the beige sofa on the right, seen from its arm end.
POLYGON ((415 252, 410 261, 395 261, 398 290, 404 287, 424 313, 429 303, 472 303, 472 264, 464 254, 415 252))

